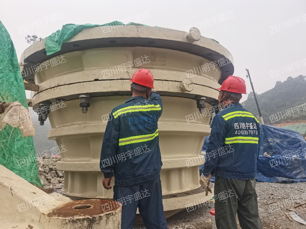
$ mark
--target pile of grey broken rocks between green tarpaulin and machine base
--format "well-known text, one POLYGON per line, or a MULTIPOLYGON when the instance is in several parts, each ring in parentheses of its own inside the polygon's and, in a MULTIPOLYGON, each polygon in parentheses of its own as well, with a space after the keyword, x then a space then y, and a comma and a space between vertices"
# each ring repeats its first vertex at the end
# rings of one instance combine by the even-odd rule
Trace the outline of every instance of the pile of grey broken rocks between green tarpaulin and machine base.
POLYGON ((43 156, 37 160, 38 175, 44 188, 56 188, 64 184, 64 172, 57 170, 56 163, 61 157, 43 156))

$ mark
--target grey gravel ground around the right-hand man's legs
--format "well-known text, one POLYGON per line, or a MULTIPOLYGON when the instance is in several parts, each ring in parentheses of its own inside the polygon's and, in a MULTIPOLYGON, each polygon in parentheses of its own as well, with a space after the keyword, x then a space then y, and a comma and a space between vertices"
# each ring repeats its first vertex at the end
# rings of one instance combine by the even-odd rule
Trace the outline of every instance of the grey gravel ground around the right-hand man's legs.
MULTIPOLYGON (((306 205, 294 208, 300 203, 306 202, 306 182, 293 184, 279 183, 256 183, 258 196, 259 215, 263 223, 263 228, 305 228, 306 225, 294 220, 289 220, 285 213, 293 210, 306 221, 306 205)), ((209 211, 214 208, 213 202, 207 202, 202 207, 187 212, 186 209, 167 219, 169 229, 210 229, 211 218, 209 211)), ((144 226, 135 226, 135 229, 144 229, 144 226)), ((239 227, 238 224, 238 228, 239 227)))

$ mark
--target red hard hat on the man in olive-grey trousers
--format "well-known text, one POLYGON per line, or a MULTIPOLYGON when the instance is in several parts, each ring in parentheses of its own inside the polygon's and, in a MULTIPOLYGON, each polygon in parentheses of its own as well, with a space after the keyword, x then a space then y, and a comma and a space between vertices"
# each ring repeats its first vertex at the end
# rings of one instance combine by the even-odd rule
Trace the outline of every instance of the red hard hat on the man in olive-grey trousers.
POLYGON ((242 78, 234 75, 227 77, 227 79, 222 83, 221 87, 217 89, 238 94, 247 93, 245 81, 242 78))

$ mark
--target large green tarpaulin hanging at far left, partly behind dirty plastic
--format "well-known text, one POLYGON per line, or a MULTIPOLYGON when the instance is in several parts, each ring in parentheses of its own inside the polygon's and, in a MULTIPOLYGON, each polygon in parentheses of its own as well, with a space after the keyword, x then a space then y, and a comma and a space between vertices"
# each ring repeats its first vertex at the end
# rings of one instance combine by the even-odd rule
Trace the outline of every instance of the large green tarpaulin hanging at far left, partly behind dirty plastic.
MULTIPOLYGON (((28 109, 15 47, 1 21, 0 80, 0 101, 18 101, 28 109)), ((0 131, 0 164, 32 184, 43 186, 38 177, 33 137, 22 136, 19 128, 6 125, 0 131)))

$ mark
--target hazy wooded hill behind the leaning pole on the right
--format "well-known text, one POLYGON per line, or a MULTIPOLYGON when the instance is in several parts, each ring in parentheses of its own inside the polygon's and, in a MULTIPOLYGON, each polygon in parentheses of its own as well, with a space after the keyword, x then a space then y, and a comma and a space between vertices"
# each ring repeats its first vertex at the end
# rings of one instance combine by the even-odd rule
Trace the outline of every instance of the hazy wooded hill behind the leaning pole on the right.
MULTIPOLYGON (((256 93, 256 97, 265 124, 306 123, 306 76, 277 81, 274 88, 256 93)), ((253 115, 259 115, 253 92, 248 94, 242 106, 253 115)))

